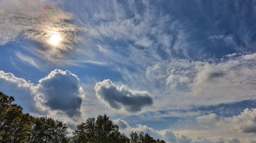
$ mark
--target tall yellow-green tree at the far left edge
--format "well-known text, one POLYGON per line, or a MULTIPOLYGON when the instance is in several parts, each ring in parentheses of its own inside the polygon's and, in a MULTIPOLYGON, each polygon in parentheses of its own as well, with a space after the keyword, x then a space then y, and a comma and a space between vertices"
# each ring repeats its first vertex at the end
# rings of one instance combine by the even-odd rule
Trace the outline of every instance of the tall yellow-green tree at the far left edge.
POLYGON ((31 116, 13 101, 0 92, 0 142, 26 142, 31 134, 31 116))

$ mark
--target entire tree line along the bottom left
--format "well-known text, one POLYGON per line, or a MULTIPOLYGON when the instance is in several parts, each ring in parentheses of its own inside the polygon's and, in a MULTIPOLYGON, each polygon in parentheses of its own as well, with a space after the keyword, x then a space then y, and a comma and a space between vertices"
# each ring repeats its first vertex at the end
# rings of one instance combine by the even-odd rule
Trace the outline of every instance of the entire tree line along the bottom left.
POLYGON ((130 138, 119 132, 106 115, 89 118, 69 135, 65 123, 47 117, 33 117, 13 104, 14 98, 0 92, 0 142, 67 143, 165 143, 147 133, 132 132, 130 138))

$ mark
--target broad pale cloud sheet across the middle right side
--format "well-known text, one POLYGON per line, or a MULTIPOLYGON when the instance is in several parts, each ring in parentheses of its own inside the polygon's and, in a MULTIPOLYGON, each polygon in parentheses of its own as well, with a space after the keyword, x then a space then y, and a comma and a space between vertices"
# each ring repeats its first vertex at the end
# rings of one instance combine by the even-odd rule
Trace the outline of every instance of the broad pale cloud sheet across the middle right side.
POLYGON ((167 106, 191 109, 191 106, 253 100, 255 61, 255 53, 195 62, 172 59, 148 66, 143 80, 138 84, 132 80, 130 84, 137 88, 151 87, 148 92, 161 97, 154 104, 160 110, 167 106))

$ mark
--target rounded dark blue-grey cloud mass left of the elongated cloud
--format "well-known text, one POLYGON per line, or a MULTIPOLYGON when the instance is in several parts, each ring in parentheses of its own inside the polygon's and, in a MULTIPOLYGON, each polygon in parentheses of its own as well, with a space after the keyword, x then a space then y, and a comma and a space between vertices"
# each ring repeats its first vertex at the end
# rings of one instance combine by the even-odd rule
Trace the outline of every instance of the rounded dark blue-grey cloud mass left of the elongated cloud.
POLYGON ((76 75, 55 69, 38 82, 45 105, 53 110, 64 111, 69 117, 80 114, 82 99, 79 97, 79 78, 76 75))

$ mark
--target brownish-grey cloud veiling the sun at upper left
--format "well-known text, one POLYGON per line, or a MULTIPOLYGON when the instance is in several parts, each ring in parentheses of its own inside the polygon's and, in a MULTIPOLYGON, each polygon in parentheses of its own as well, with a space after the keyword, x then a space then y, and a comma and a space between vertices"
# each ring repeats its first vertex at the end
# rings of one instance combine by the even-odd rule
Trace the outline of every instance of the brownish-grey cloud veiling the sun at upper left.
POLYGON ((61 63, 74 49, 80 28, 74 17, 50 1, 0 1, 4 13, 0 15, 0 45, 18 38, 29 39, 39 47, 30 48, 41 58, 61 63))

